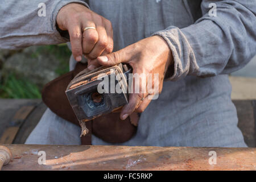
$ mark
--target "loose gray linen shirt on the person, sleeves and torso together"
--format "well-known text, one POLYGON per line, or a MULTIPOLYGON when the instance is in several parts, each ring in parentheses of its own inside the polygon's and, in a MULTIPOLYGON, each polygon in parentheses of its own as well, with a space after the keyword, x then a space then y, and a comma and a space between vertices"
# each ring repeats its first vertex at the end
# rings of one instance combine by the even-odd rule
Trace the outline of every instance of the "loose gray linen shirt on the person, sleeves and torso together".
MULTIPOLYGON (((87 6, 72 0, 4 1, 0 48, 67 42, 55 24, 59 9, 70 2, 87 6), (46 4, 45 17, 37 15, 40 2, 46 4)), ((255 0, 93 0, 89 7, 112 22, 114 51, 160 35, 174 56, 174 75, 141 115, 135 137, 123 144, 189 146, 197 138, 193 146, 210 146, 204 138, 229 135, 233 143, 241 139, 225 74, 242 68, 256 53, 255 0), (208 13, 210 3, 217 7, 216 16, 208 13)), ((93 143, 105 144, 95 137, 93 143)), ((220 146, 229 144, 220 141, 220 146)))

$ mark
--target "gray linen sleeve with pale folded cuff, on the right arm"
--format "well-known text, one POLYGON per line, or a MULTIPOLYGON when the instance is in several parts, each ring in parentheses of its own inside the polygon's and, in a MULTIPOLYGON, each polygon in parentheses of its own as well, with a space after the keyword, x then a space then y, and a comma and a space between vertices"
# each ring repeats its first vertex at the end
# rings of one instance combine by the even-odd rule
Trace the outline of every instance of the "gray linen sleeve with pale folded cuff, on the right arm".
POLYGON ((216 76, 237 71, 256 54, 256 1, 208 1, 201 3, 203 16, 185 28, 168 27, 162 36, 174 56, 174 74, 216 76), (209 15, 215 3, 216 16, 209 15))

